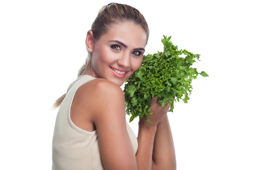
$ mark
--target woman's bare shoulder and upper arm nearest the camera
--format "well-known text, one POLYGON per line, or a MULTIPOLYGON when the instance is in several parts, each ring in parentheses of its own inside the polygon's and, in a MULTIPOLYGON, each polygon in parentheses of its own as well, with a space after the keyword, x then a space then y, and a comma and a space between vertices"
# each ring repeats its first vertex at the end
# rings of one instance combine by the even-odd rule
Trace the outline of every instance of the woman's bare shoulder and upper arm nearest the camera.
POLYGON ((126 126, 124 93, 113 82, 98 81, 90 103, 104 168, 136 170, 136 156, 126 126))

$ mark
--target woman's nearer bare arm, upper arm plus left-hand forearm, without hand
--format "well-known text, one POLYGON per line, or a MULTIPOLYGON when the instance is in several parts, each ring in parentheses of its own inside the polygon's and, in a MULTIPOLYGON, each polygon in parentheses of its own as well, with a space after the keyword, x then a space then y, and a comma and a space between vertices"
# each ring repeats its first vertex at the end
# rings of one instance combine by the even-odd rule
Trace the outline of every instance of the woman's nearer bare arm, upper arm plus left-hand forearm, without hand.
POLYGON ((105 170, 151 170, 151 166, 153 169, 152 150, 156 126, 139 127, 138 150, 135 155, 126 127, 125 114, 120 114, 125 108, 122 89, 103 82, 93 88, 92 94, 95 99, 91 99, 90 105, 94 106, 93 122, 96 125, 99 151, 105 170))

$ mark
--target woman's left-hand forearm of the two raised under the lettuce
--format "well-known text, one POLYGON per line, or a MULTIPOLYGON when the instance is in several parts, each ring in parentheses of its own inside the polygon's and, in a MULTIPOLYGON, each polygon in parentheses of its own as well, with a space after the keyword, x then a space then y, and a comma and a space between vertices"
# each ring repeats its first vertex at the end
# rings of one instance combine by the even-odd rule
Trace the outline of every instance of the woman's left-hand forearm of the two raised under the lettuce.
POLYGON ((136 153, 137 170, 152 169, 152 152, 157 127, 145 127, 139 125, 138 150, 136 153))

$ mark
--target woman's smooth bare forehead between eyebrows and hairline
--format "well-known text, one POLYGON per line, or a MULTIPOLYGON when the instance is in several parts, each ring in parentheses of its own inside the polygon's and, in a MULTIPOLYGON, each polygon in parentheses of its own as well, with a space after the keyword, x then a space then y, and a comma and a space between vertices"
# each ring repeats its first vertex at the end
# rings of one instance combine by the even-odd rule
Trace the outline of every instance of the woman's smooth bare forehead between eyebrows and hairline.
POLYGON ((145 48, 147 35, 144 29, 134 23, 119 23, 112 25, 110 30, 101 39, 104 42, 119 40, 128 48, 145 48))

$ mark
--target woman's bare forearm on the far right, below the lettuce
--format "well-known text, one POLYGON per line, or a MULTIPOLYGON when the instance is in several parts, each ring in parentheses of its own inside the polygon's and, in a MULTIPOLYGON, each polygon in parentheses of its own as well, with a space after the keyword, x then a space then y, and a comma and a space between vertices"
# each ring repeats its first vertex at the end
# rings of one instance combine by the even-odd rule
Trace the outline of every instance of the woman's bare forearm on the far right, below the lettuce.
POLYGON ((157 166, 163 166, 162 169, 176 170, 175 148, 167 114, 157 125, 152 158, 157 166))

